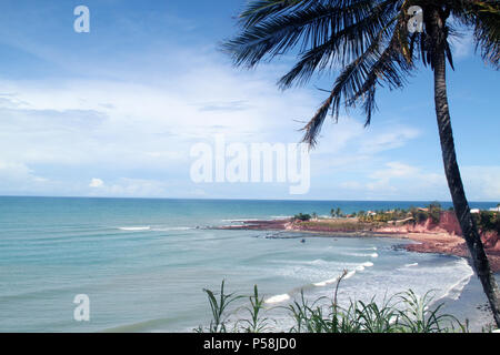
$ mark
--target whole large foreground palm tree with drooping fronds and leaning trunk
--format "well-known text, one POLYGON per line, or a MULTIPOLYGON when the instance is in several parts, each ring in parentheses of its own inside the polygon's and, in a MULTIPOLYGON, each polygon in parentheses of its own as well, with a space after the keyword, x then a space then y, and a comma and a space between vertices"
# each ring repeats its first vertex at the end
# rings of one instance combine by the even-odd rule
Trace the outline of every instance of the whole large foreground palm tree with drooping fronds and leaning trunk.
POLYGON ((223 44, 237 67, 253 68, 287 53, 298 55, 293 68, 279 80, 281 89, 304 84, 314 73, 341 68, 328 98, 303 128, 303 141, 311 146, 317 143, 328 112, 337 121, 341 105, 359 104, 369 125, 378 87, 402 88, 418 61, 430 67, 444 172, 454 211, 500 326, 500 293, 463 191, 446 83, 447 61, 453 68, 449 40, 457 34, 457 28, 472 29, 484 61, 496 70, 500 68, 500 1, 249 0, 239 17, 239 27, 240 32, 223 44), (419 31, 409 28, 416 9, 410 8, 414 6, 422 10, 419 31))

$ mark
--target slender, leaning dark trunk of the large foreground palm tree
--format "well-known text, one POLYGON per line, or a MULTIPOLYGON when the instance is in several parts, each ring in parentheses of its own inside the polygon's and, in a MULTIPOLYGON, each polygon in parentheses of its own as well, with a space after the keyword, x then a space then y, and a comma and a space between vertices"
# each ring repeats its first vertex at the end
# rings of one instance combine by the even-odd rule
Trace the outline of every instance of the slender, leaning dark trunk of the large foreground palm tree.
POLYGON ((448 180, 454 212, 462 229, 467 246, 472 257, 472 265, 478 274, 482 288, 490 303, 494 322, 500 327, 500 292, 490 268, 488 256, 484 252, 478 227, 472 220, 466 192, 463 191, 462 179, 457 163, 454 151, 453 132, 451 130, 450 111, 448 108, 447 82, 446 82, 446 55, 442 31, 443 20, 439 12, 434 11, 431 20, 430 34, 433 41, 433 71, 434 71, 434 102, 436 115, 438 119, 439 138, 441 141, 442 159, 444 162, 444 173, 448 180))

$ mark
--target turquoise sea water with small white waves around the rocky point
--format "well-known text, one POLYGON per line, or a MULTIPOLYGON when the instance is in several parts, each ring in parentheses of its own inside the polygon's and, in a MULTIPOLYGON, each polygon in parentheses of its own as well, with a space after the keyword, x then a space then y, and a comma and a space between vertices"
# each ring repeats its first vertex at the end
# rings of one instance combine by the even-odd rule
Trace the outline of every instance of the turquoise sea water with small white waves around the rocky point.
POLYGON ((240 294, 258 284, 274 306, 300 290, 313 298, 331 295, 343 268, 350 277, 342 300, 408 288, 457 298, 472 275, 467 262, 393 247, 403 241, 206 229, 299 212, 327 215, 338 206, 424 204, 0 197, 0 332, 189 332, 209 320, 202 288, 217 290, 222 280, 240 294), (77 294, 90 298, 90 322, 73 320, 77 294))

